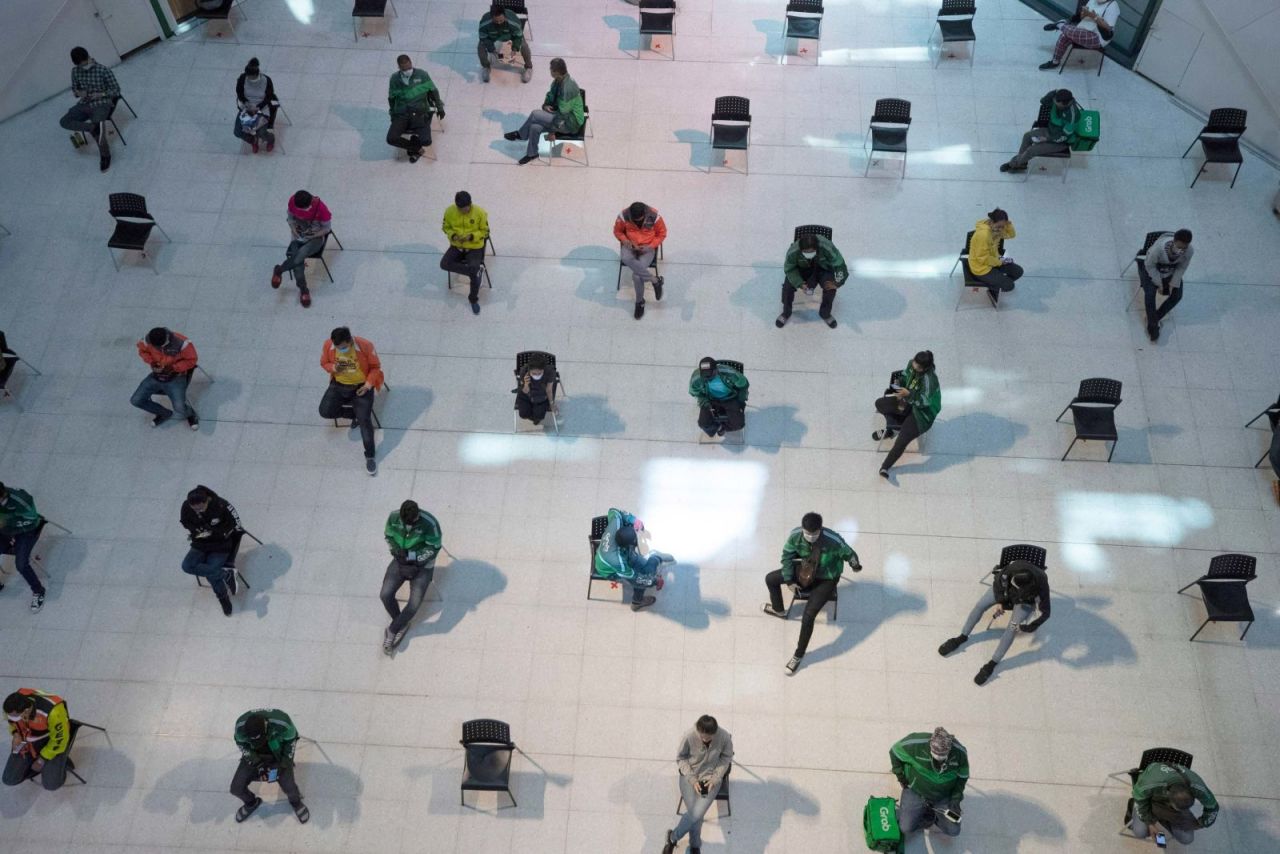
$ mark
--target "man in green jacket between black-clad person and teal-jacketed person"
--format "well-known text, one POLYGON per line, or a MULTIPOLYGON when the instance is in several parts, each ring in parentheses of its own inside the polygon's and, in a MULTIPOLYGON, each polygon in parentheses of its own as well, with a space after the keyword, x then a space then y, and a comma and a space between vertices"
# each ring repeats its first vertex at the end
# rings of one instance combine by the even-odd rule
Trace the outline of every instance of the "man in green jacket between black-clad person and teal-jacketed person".
POLYGON ((383 652, 388 656, 399 645, 408 631, 422 597, 435 576, 435 556, 440 551, 443 534, 435 516, 419 508, 417 502, 406 501, 401 508, 387 517, 383 536, 392 551, 392 562, 387 565, 383 576, 383 590, 379 594, 383 607, 390 615, 392 625, 383 635, 383 652), (401 609, 396 594, 408 583, 408 602, 401 609))

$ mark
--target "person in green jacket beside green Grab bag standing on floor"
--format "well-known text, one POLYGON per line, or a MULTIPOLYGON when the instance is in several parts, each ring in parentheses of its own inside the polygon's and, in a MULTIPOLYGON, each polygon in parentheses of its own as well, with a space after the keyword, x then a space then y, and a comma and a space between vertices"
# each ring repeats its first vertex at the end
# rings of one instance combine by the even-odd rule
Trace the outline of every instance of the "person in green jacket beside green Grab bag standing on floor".
POLYGON ((888 752, 893 776, 902 786, 897 823, 904 834, 937 827, 960 835, 960 802, 969 782, 969 752, 941 726, 911 732, 888 752))

